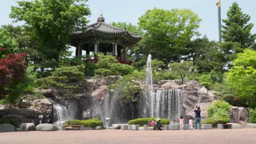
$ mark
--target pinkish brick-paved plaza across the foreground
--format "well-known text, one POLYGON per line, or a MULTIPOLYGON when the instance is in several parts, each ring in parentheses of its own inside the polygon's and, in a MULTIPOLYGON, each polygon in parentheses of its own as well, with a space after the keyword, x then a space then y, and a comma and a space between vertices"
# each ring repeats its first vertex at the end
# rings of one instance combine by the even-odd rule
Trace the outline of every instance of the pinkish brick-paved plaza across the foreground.
POLYGON ((256 143, 256 129, 66 130, 0 133, 0 143, 256 143))

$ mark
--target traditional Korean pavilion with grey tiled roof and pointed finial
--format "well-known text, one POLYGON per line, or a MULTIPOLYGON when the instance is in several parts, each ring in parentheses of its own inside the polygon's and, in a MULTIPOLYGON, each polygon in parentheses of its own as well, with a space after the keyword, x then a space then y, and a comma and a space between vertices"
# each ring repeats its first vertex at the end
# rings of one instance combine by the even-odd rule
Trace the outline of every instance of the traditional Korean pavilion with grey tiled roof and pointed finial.
POLYGON ((142 38, 138 34, 127 32, 125 28, 110 26, 100 13, 97 22, 89 25, 85 32, 76 31, 70 36, 72 46, 76 47, 75 56, 82 56, 82 50, 86 55, 94 53, 85 61, 97 62, 97 53, 112 55, 118 58, 121 63, 131 64, 126 60, 127 46, 138 43, 142 38))

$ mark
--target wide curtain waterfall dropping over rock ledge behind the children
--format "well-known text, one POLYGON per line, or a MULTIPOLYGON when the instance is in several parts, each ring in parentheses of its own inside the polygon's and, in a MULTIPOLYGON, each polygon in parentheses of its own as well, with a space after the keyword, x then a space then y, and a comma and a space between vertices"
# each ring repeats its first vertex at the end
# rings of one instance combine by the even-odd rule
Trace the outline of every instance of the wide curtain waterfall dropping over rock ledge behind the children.
MULTIPOLYGON (((140 117, 148 117, 148 111, 152 110, 151 105, 147 105, 144 100, 147 99, 145 95, 142 96, 140 102, 140 117), (146 105, 145 105, 146 104, 146 105)), ((181 89, 163 89, 155 90, 153 94, 153 101, 148 103, 153 104, 153 115, 154 117, 178 119, 179 116, 183 115, 183 92, 181 89)))

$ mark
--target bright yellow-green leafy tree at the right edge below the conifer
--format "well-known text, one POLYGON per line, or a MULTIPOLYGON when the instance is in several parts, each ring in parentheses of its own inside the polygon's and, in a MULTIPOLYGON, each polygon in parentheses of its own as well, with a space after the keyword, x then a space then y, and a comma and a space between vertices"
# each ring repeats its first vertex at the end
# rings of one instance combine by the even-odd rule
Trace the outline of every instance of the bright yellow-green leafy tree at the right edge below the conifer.
POLYGON ((234 65, 226 75, 226 83, 231 91, 247 99, 249 107, 256 107, 256 51, 245 49, 238 53, 234 65))

